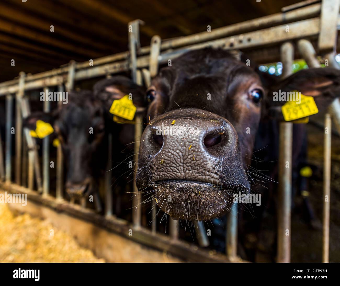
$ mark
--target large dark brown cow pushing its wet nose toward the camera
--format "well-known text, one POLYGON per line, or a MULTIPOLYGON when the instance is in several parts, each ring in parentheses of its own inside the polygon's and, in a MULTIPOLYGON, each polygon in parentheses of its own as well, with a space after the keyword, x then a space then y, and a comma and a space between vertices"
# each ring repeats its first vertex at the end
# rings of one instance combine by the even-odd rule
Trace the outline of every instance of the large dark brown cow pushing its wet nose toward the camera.
POLYGON ((136 184, 173 219, 209 220, 252 192, 258 127, 282 120, 278 91, 313 96, 320 111, 340 91, 340 71, 301 70, 282 81, 223 49, 193 50, 162 68, 147 91, 150 121, 136 184))

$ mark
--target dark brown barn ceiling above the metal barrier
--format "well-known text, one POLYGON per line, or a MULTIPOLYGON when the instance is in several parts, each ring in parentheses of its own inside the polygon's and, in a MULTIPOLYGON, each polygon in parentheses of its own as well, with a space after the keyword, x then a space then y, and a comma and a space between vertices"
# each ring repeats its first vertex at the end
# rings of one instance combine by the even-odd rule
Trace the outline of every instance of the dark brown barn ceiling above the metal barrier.
MULTIPOLYGON (((127 25, 141 19, 142 46, 153 35, 186 36, 266 16, 299 0, 2 0, 0 82, 128 50, 127 25), (53 25, 54 32, 51 32, 53 25), (15 66, 11 60, 15 59, 15 66)), ((315 2, 315 1, 313 1, 315 2)))

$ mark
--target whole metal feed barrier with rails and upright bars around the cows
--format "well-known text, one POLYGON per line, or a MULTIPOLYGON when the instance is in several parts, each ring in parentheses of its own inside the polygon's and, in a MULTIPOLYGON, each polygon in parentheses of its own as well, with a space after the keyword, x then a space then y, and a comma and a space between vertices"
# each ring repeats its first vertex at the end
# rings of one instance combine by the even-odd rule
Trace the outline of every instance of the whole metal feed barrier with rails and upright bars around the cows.
MULTIPOLYGON (((329 66, 339 68, 335 61, 335 50, 337 47, 337 30, 340 29, 339 17, 340 0, 304 1, 291 6, 284 7, 282 13, 261 17, 254 20, 229 25, 226 27, 202 32, 190 36, 173 38, 161 41, 159 36, 151 39, 148 47, 140 47, 139 24, 140 20, 129 23, 132 28, 129 31, 129 51, 95 59, 93 66, 89 62, 76 63, 71 61, 68 66, 42 72, 34 75, 19 74, 18 79, 0 83, 0 96, 6 97, 6 133, 5 133, 5 156, 2 154, 0 145, 0 186, 15 193, 27 193, 28 199, 39 202, 54 210, 63 211, 95 223, 98 226, 119 233, 126 238, 150 246, 159 250, 166 250, 169 253, 187 259, 189 261, 241 261, 237 256, 237 204, 234 203, 231 213, 227 216, 226 230, 226 255, 208 252, 193 244, 188 244, 178 239, 179 224, 170 219, 170 235, 156 233, 156 220, 152 222, 151 231, 141 227, 141 194, 138 193, 134 184, 134 195, 132 202, 132 225, 117 219, 113 215, 112 192, 110 179, 111 172, 105 175, 105 216, 101 216, 92 210, 80 208, 74 203, 63 199, 63 154, 61 146, 57 147, 56 161, 56 195, 50 195, 50 174, 49 174, 49 138, 43 139, 43 158, 41 169, 38 160, 35 139, 31 137, 28 130, 22 130, 22 118, 30 114, 28 98, 25 93, 34 89, 48 89, 58 87, 58 91, 72 90, 75 81, 92 77, 109 76, 123 71, 131 71, 133 80, 146 86, 150 85, 151 78, 158 72, 158 65, 165 64, 169 59, 175 59, 181 54, 194 49, 204 47, 222 48, 225 50, 244 49, 250 54, 252 51, 261 50, 261 62, 266 62, 266 55, 271 49, 279 47, 280 60, 283 63, 283 77, 292 73, 294 54, 303 57, 308 66, 320 67, 316 52, 311 42, 318 40, 318 53, 329 60, 329 66), (287 32, 289 26, 289 32, 287 32), (294 53, 294 46, 298 48, 294 53), (12 174, 12 134, 13 127, 13 98, 15 97, 15 178, 12 174), (22 137, 24 135, 24 137, 22 137), (26 142, 26 143, 25 143, 26 142), (27 145, 27 146, 26 146, 27 145), (22 156, 24 154, 24 156, 22 156), (27 155, 26 155, 27 154, 27 155), (27 157, 26 157, 27 156, 27 157), (23 171, 23 172, 22 172, 23 171), (23 176, 27 173, 27 177, 23 176), (21 185, 27 180, 28 188, 21 185), (37 190, 33 191, 34 180, 37 190), (133 229, 134 235, 129 236, 129 229, 133 229)), ((256 55, 256 54, 255 54, 256 55)), ((61 103, 61 102, 60 102, 61 103)), ((49 111, 48 101, 44 102, 44 111, 49 111)), ((142 110, 139 110, 142 111, 142 110)), ((340 131, 340 103, 336 100, 330 107, 329 112, 340 131)), ((136 113, 135 124, 135 154, 139 150, 139 139, 143 131, 142 113, 136 113)), ((331 154, 331 117, 325 116, 324 139, 324 196, 330 195, 330 154, 331 154)), ((280 123, 280 145, 279 145, 279 189, 278 189, 278 229, 277 229, 277 262, 290 262, 290 235, 291 233, 291 169, 285 168, 285 162, 292 161, 292 123, 280 123)), ((112 143, 112 136, 109 136, 112 143)), ((1 144, 1 140, 0 140, 1 144)), ((108 159, 112 156, 111 148, 108 149, 108 159)), ((138 155, 135 155, 135 162, 138 155)), ((111 160, 108 160, 107 170, 111 169, 111 160)), ((136 168, 136 164, 135 164, 136 168)), ((97 200, 96 200, 97 201, 97 200)), ((323 211, 323 262, 328 262, 329 252, 329 200, 324 201, 323 211)), ((82 202, 84 205, 84 202, 82 202)), ((153 208, 154 217, 156 210, 153 208)), ((200 245, 206 245, 206 237, 203 235, 202 223, 195 226, 199 235, 200 245)))

